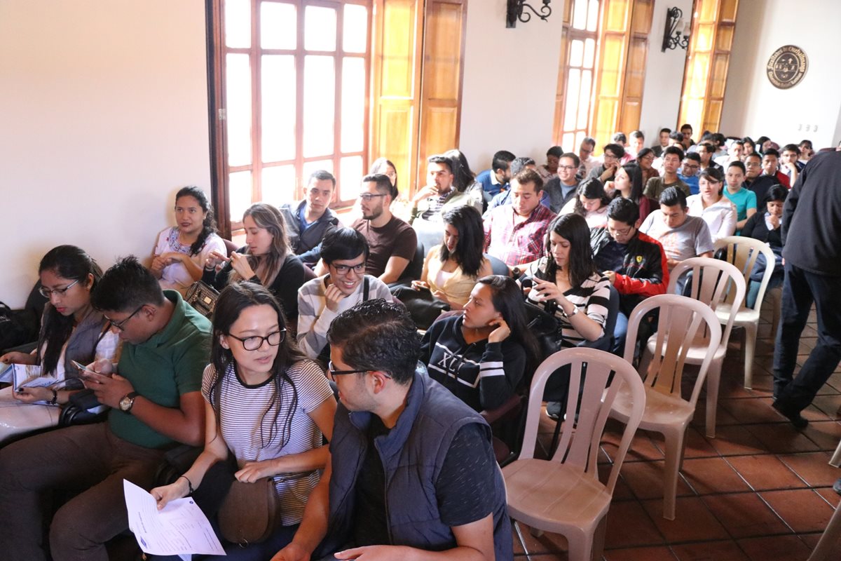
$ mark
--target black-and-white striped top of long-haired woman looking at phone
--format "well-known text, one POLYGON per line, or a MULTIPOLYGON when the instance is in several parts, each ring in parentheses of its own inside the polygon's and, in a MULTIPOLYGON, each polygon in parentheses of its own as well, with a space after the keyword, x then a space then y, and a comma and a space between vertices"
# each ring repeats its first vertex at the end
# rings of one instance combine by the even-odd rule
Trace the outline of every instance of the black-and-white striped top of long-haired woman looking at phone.
MULTIPOLYGON (((540 261, 532 263, 526 272, 526 277, 535 277, 539 271, 540 274, 537 274, 537 278, 545 278, 546 275, 543 273, 545 270, 546 257, 542 257, 540 261)), ((542 304, 532 294, 535 293, 532 291, 528 294, 527 299, 529 302, 542 305, 547 311, 554 311, 555 317, 561 324, 562 347, 575 347, 584 341, 584 337, 580 336, 579 332, 575 331, 573 326, 570 325, 569 320, 563 317, 560 306, 553 306, 553 303, 549 305, 542 304)), ((563 296, 578 307, 579 314, 584 312, 591 320, 598 322, 602 327, 600 337, 604 335, 607 305, 611 299, 611 283, 607 280, 607 277, 602 276, 600 273, 594 273, 581 286, 569 288, 569 290, 563 293, 563 296)))

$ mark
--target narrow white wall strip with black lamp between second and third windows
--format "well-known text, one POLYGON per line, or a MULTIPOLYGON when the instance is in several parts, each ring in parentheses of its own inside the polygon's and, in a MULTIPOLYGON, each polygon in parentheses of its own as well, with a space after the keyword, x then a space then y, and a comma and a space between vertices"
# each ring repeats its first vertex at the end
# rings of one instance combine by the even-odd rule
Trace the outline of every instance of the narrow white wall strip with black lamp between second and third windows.
MULTIPOLYGON (((661 52, 663 30, 666 25, 666 11, 677 7, 683 10, 683 19, 692 19, 692 0, 655 0, 651 19, 651 34, 648 36, 648 60, 645 65, 643 86, 643 109, 639 128, 645 135, 645 146, 657 141, 659 130, 675 130, 680 124, 680 92, 683 88, 686 51, 677 47, 661 52)), ((626 130, 625 133, 631 132, 626 130)))

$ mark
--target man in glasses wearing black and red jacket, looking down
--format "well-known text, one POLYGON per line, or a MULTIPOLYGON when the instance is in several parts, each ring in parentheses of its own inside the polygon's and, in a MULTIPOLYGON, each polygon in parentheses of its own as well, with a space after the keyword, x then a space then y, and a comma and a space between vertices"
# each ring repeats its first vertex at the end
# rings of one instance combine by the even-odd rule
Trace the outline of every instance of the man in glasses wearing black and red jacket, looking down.
POLYGON ((607 205, 607 226, 590 230, 595 267, 619 293, 619 315, 613 331, 614 351, 625 348, 628 316, 643 299, 665 294, 669 267, 660 242, 639 231, 639 207, 618 197, 607 205))

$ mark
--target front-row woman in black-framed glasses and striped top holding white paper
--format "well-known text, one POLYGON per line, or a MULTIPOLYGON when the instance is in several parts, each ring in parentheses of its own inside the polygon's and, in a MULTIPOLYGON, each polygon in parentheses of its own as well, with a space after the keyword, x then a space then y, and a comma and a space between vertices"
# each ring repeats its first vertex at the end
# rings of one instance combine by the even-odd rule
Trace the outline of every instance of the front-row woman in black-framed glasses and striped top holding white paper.
POLYGON ((287 329, 267 288, 245 282, 222 290, 202 382, 204 452, 175 483, 150 491, 163 508, 198 489, 208 469, 230 453, 238 481, 272 478, 282 526, 264 542, 225 544, 225 559, 269 559, 290 542, 327 462, 322 435, 332 437, 336 400, 324 372, 299 352, 287 329))

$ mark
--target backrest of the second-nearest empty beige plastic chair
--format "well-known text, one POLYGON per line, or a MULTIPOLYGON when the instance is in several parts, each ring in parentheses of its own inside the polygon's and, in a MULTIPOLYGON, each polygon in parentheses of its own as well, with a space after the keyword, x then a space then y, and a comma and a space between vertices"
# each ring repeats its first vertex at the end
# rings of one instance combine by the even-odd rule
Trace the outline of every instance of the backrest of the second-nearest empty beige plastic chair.
POLYGON ((699 300, 677 294, 651 296, 637 304, 631 312, 631 317, 628 318, 625 341, 625 360, 628 362, 633 360, 639 324, 652 310, 659 311, 657 333, 654 334, 656 341, 654 352, 653 356, 649 357, 648 352, 644 351, 645 343, 643 343, 643 360, 640 362, 639 373, 643 376, 643 382, 646 385, 662 394, 684 399, 680 394, 680 383, 686 355, 698 332, 704 328, 709 330, 704 360, 698 372, 695 388, 688 400, 694 408, 716 348, 722 341, 722 326, 710 306, 699 300))

